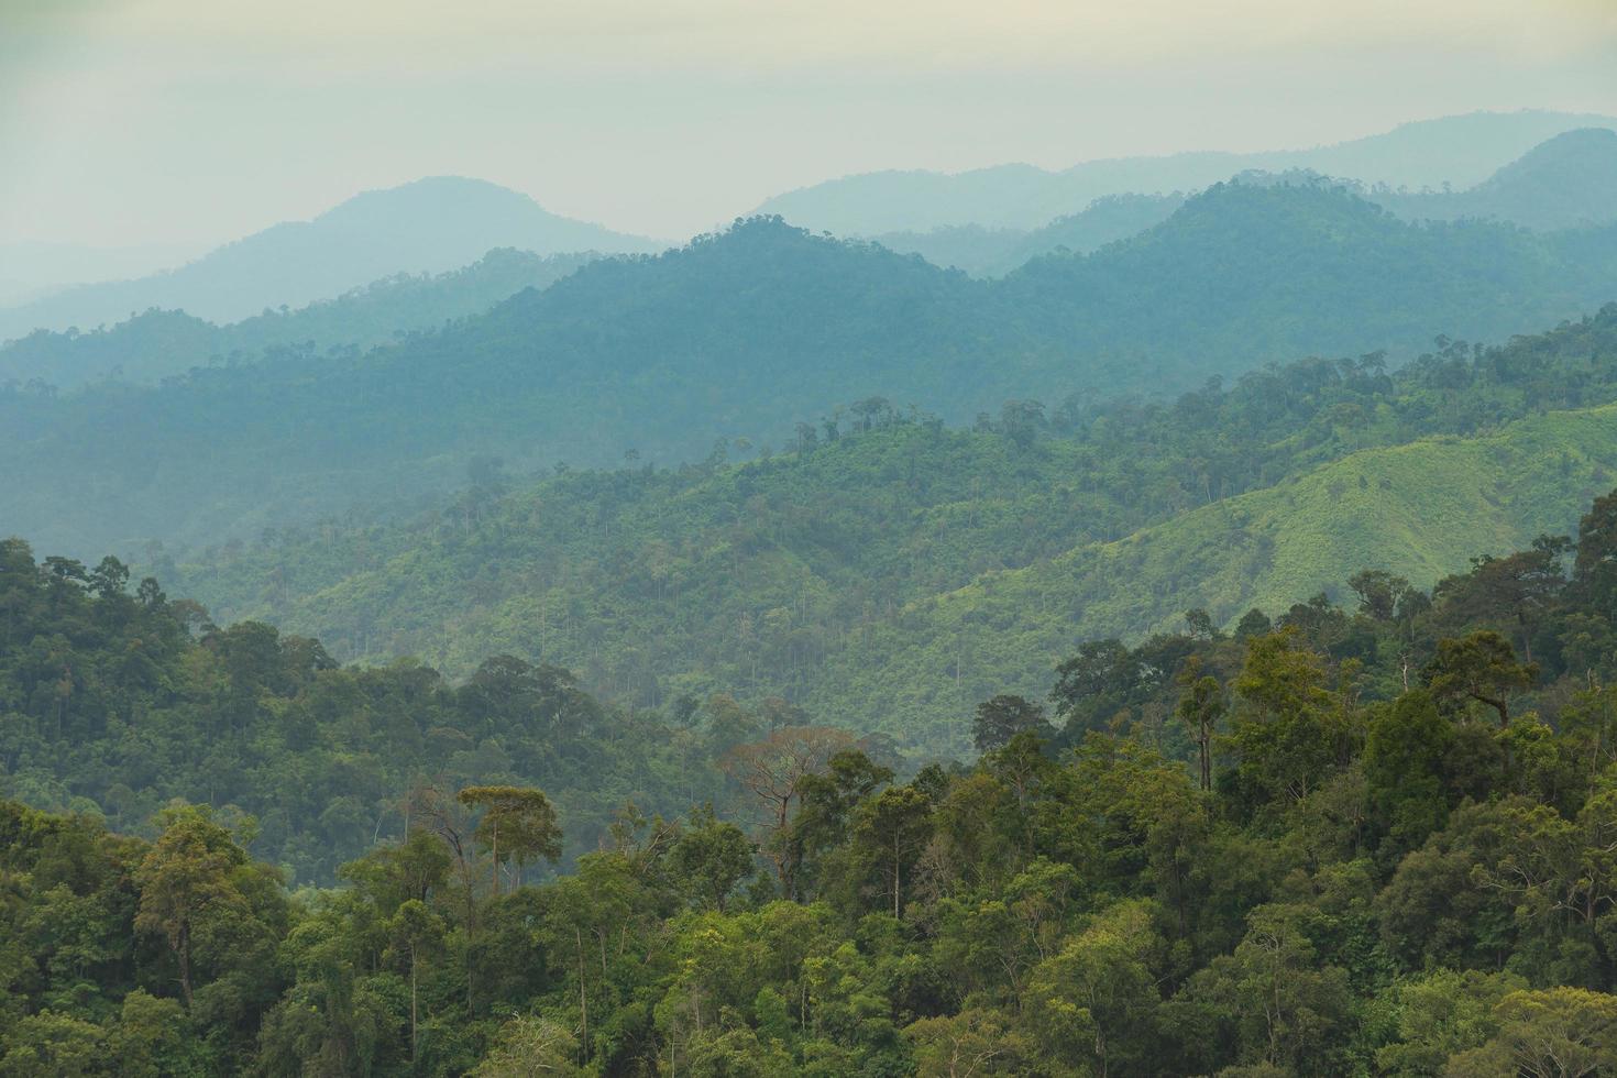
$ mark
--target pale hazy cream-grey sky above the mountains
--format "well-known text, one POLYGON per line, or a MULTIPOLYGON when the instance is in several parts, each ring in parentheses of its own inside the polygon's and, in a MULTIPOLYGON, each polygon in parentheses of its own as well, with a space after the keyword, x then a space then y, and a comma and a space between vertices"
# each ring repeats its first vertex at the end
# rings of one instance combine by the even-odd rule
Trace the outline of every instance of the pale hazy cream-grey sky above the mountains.
POLYGON ((875 168, 1617 113, 1617 0, 0 0, 0 242, 205 244, 424 175, 682 238, 875 168))

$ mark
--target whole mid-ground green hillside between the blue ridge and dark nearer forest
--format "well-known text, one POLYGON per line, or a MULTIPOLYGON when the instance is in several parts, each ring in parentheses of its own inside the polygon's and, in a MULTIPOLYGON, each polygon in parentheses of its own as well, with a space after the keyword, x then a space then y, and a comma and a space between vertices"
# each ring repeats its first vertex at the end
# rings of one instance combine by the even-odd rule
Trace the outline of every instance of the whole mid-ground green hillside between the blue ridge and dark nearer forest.
POLYGON ((404 519, 325 519, 144 561, 222 621, 454 677, 509 653, 611 700, 783 697, 959 752, 1085 635, 1421 587, 1478 543, 1565 532, 1617 482, 1617 307, 1507 346, 1307 360, 1177 401, 1017 401, 969 428, 881 399, 766 461, 477 483, 404 519), (954 716, 954 718, 951 718, 954 716))

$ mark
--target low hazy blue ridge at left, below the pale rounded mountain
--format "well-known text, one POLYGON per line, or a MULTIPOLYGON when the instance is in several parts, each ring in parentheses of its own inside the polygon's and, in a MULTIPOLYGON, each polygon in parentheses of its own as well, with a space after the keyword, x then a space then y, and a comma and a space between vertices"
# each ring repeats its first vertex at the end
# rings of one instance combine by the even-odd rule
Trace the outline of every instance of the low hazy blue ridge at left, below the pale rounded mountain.
POLYGON ((183 310, 152 309, 110 328, 34 330, 0 346, 0 381, 34 378, 58 388, 86 381, 157 381, 210 362, 244 362, 267 349, 372 347, 482 314, 524 288, 548 288, 602 255, 490 251, 440 275, 396 275, 298 310, 265 310, 213 325, 183 310))

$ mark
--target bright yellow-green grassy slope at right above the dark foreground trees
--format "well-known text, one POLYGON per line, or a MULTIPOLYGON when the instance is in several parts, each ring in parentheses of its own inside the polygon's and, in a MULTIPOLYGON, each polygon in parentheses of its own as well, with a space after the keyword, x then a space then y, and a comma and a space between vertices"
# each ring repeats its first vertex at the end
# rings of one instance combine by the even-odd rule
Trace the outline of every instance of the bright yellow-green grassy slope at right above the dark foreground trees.
POLYGON ((807 705, 868 716, 912 743, 959 747, 973 701, 1041 695, 1082 638, 1176 627, 1193 606, 1226 622, 1252 606, 1281 613, 1365 567, 1426 587, 1478 551, 1565 532, 1614 477, 1614 406, 1552 412, 1484 438, 1357 453, 914 603, 833 656, 807 705))

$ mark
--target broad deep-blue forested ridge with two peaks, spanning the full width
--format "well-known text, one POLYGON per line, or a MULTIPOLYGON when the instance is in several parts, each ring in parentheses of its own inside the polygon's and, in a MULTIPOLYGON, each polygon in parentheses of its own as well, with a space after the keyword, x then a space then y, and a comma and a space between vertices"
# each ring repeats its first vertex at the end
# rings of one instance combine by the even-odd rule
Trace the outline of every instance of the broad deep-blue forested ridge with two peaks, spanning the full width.
POLYGON ((57 550, 197 541, 514 470, 781 444, 884 396, 969 422, 1006 399, 1172 391, 1438 333, 1502 339, 1617 294, 1617 228, 1413 226, 1318 184, 1221 184, 1155 229, 973 281, 752 220, 595 262, 393 347, 160 388, 0 391, 0 493, 57 550), (834 386, 831 390, 830 386, 834 386), (86 493, 73 504, 63 488, 86 493))

